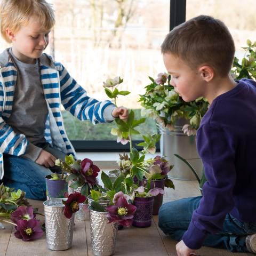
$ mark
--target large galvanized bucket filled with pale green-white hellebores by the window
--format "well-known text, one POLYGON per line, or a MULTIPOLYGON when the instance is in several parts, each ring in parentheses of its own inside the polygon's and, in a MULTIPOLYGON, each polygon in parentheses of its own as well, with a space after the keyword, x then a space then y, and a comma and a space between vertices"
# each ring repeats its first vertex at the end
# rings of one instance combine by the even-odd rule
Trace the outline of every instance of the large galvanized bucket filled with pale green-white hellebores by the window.
POLYGON ((172 177, 193 179, 190 170, 173 156, 174 153, 194 159, 197 169, 202 169, 202 161, 196 150, 195 134, 201 118, 209 103, 204 98, 185 102, 170 84, 171 76, 158 74, 156 79, 149 77, 151 83, 145 87, 145 94, 140 95, 143 109, 142 116, 153 117, 158 123, 161 155, 174 164, 172 177), (187 137, 188 135, 188 137, 187 137))

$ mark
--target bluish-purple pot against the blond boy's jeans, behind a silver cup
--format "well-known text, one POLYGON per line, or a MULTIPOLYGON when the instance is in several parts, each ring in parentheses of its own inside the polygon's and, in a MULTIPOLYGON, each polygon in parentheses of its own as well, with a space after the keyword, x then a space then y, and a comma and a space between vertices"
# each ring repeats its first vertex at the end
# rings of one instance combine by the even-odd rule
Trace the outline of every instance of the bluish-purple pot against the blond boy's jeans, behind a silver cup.
MULTIPOLYGON (((61 175, 61 174, 58 174, 61 175)), ((68 194, 68 182, 63 180, 51 180, 51 174, 45 176, 47 200, 66 197, 68 194)))

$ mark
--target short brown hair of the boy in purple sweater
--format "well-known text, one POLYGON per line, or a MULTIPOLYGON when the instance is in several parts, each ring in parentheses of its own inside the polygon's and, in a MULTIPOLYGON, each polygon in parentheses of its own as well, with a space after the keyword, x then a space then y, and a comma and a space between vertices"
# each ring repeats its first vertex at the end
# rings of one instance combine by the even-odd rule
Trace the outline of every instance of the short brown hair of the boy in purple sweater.
POLYGON ((223 77, 233 64, 235 44, 222 21, 200 15, 175 27, 164 39, 161 51, 176 55, 191 68, 209 65, 223 77))

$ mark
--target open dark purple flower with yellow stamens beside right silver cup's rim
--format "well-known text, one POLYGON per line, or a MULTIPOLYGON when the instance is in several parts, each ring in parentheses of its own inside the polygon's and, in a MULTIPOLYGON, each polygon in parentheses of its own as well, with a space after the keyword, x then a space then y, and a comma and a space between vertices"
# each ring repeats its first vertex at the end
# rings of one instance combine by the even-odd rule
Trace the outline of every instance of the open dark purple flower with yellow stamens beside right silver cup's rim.
POLYGON ((119 193, 116 204, 108 205, 106 210, 108 211, 108 223, 116 221, 119 222, 120 225, 129 227, 132 225, 132 218, 136 211, 136 206, 129 204, 124 195, 122 196, 121 193, 119 193))

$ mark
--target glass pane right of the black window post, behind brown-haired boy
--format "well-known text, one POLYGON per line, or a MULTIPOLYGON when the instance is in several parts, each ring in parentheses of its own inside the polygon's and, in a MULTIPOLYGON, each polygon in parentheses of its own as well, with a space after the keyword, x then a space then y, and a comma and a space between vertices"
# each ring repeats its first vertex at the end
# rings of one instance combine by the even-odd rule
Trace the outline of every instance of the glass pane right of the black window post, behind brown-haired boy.
POLYGON ((256 5, 255 0, 187 0, 186 20, 197 15, 211 15, 220 19, 228 27, 234 38, 236 57, 242 60, 247 39, 256 41, 256 5))

